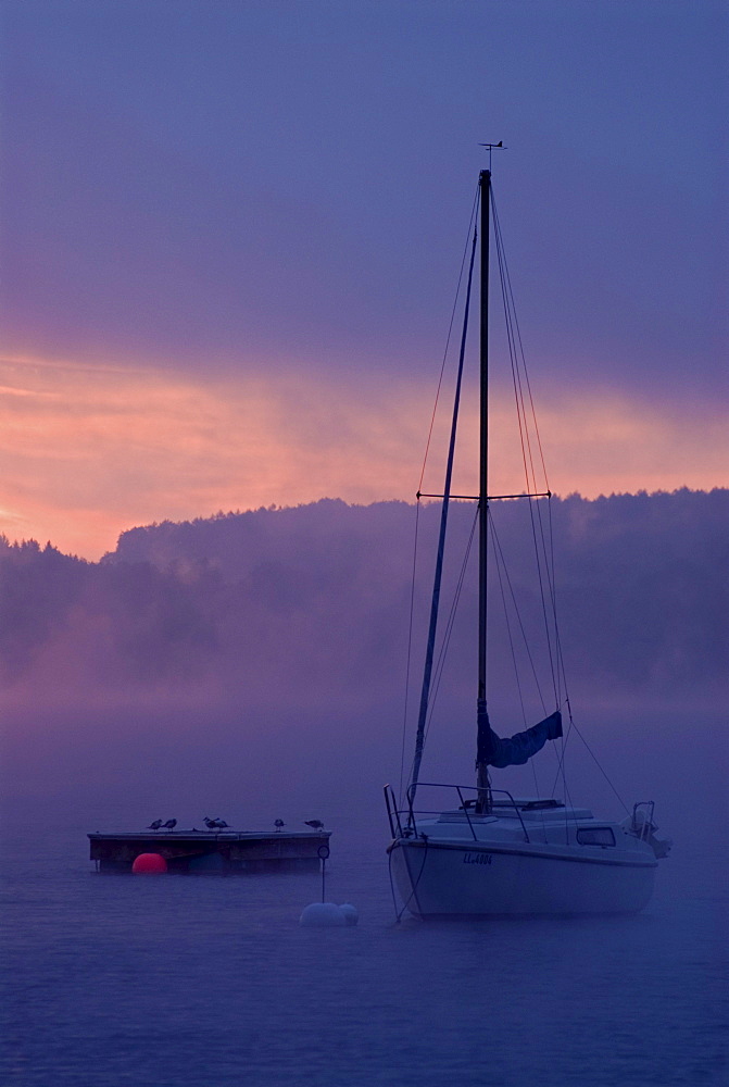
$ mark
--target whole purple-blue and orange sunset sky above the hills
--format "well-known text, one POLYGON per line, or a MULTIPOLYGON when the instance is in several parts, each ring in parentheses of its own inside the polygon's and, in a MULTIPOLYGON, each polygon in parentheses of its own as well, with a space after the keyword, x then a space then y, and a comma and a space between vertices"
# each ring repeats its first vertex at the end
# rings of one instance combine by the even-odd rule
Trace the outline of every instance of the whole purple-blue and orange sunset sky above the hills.
MULTIPOLYGON (((0 532, 96 559, 165 518, 412 499, 499 140, 552 489, 726 485, 728 24, 4 0, 0 532)), ((492 412, 505 490, 498 359, 492 412)))

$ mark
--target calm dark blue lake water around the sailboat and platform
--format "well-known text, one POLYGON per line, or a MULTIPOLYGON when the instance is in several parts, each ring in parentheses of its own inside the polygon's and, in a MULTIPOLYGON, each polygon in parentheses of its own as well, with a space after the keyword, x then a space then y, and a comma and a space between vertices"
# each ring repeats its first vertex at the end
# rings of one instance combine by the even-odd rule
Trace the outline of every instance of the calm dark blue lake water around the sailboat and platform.
MULTIPOLYGON (((724 1084, 726 852, 706 825, 718 787, 688 824, 659 819, 676 848, 640 916, 481 924, 394 924, 369 786, 314 812, 292 798, 335 832, 327 897, 360 910, 359 927, 328 930, 298 924, 319 892, 314 874, 93 874, 87 830, 172 814, 134 789, 113 803, 83 790, 16 799, 4 820, 2 1082, 724 1084)), ((271 822, 263 812, 252 825, 271 822)))

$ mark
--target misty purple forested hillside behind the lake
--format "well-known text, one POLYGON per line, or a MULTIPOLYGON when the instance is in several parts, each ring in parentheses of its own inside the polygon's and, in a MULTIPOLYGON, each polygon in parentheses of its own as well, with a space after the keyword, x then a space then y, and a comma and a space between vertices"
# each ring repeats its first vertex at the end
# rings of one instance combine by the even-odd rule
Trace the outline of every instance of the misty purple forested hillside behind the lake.
MULTIPOLYGON (((495 505, 495 503, 494 503, 495 505)), ((454 503, 444 617, 475 509, 454 503)), ((493 669, 529 670, 521 627, 542 637, 526 502, 494 509, 506 571, 489 607, 493 669), (504 607, 519 607, 504 625, 504 607)), ((439 509, 339 500, 218 514, 124 533, 91 563, 0 538, 0 670, 29 701, 146 690, 213 702, 274 698, 310 709, 348 692, 402 688, 411 600, 414 672, 427 624, 439 509), (415 569, 415 591, 411 594, 415 569)), ((537 511, 556 577, 567 673, 587 689, 718 690, 727 663, 729 490, 553 498, 537 511)), ((472 550, 475 550, 472 549, 472 550)), ((444 682, 469 682, 474 554, 444 682)), ((549 605, 549 591, 548 605, 549 605)), ((513 610, 513 609, 512 609, 513 610)), ((546 661, 545 645, 532 651, 546 661)))

